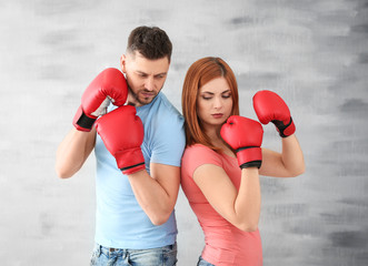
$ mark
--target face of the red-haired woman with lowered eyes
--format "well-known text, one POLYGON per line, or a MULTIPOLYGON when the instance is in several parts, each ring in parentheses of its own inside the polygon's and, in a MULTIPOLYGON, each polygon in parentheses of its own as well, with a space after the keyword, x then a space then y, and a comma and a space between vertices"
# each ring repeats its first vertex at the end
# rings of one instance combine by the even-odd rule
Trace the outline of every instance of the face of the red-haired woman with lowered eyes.
POLYGON ((225 78, 216 78, 199 89, 197 114, 202 125, 221 126, 232 110, 231 90, 225 78))

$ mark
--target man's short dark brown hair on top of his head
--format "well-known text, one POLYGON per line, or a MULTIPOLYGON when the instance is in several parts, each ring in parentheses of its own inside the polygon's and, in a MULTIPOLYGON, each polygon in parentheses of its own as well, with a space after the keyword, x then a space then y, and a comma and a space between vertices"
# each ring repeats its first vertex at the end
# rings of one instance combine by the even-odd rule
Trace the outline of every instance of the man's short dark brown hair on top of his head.
POLYGON ((138 27, 129 35, 127 52, 141 53, 150 60, 168 58, 171 60, 172 44, 169 37, 158 27, 138 27))

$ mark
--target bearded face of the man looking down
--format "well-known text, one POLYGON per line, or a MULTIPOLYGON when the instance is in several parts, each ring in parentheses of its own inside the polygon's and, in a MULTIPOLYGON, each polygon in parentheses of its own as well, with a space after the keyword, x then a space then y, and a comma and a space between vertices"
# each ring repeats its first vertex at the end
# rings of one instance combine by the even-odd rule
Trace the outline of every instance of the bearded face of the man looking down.
POLYGON ((139 52, 123 54, 121 68, 130 89, 128 103, 136 106, 150 103, 161 91, 169 66, 168 58, 148 60, 139 52))

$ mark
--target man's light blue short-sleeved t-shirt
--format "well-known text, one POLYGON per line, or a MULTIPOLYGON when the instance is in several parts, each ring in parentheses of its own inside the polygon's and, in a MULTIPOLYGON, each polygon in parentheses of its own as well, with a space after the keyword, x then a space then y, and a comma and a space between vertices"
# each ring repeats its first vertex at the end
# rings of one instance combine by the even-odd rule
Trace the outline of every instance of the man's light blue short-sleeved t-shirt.
MULTIPOLYGON (((110 105, 109 111, 112 109, 116 106, 110 105)), ((141 149, 148 173, 150 163, 180 166, 186 144, 181 114, 160 92, 150 104, 137 108, 137 115, 145 125, 141 149)), ((96 242, 106 247, 133 249, 173 244, 178 233, 175 211, 165 224, 155 226, 138 204, 128 177, 118 168, 98 134, 95 154, 96 242)))

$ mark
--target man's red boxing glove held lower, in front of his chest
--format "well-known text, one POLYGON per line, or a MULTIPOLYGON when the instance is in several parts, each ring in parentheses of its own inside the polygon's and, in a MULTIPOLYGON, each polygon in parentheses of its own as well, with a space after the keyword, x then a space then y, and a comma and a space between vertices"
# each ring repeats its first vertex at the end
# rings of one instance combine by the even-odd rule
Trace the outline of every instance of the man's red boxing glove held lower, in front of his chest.
POLYGON ((146 167, 140 149, 145 130, 142 121, 136 115, 136 108, 125 105, 107 113, 96 122, 96 130, 123 174, 146 167))

